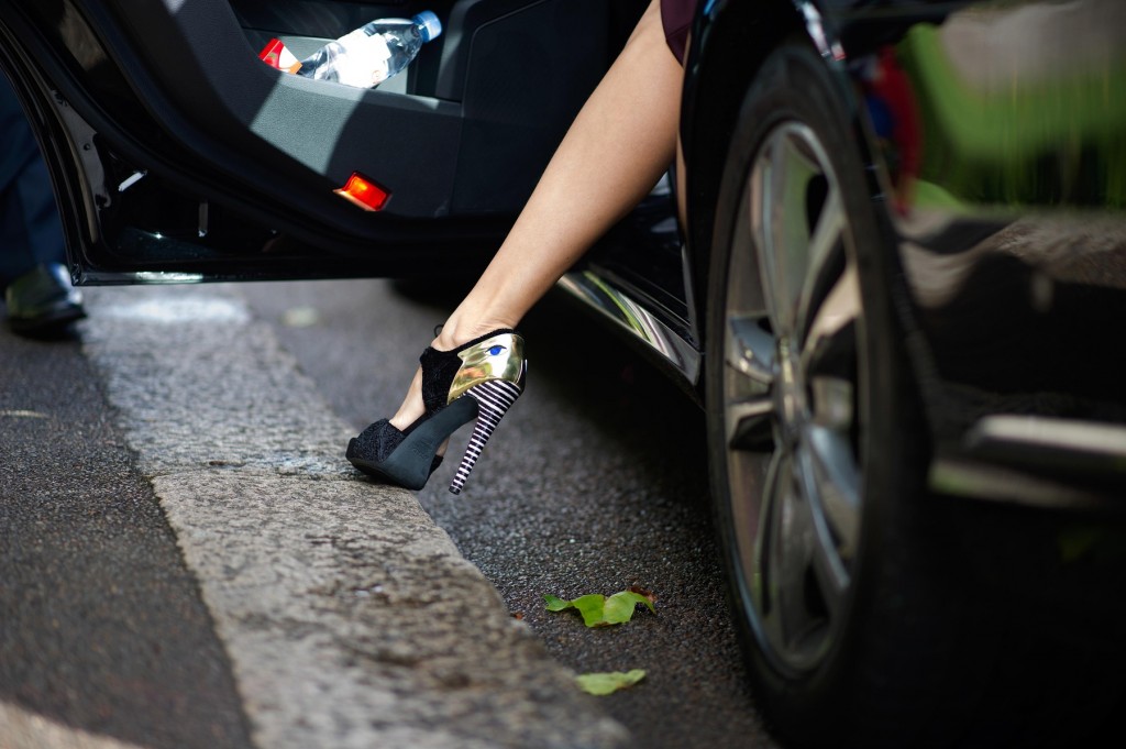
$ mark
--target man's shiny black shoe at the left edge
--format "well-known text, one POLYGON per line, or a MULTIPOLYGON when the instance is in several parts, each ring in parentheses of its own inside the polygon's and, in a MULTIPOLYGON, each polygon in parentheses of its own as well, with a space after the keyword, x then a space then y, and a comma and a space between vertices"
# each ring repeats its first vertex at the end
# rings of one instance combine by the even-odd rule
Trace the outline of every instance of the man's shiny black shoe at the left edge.
POLYGON ((56 262, 37 266, 9 284, 5 292, 8 327, 21 336, 53 336, 86 316, 82 295, 66 269, 56 262))

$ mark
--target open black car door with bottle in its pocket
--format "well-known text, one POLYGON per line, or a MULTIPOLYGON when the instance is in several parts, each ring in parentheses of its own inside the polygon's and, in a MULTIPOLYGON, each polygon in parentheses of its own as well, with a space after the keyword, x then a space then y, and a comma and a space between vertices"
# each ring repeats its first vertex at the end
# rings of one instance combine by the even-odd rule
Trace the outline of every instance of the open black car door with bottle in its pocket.
POLYGON ((480 262, 640 3, 0 0, 77 283, 399 276, 480 262), (444 26, 375 89, 293 75, 368 20, 444 26), (378 209, 341 191, 356 176, 378 209))

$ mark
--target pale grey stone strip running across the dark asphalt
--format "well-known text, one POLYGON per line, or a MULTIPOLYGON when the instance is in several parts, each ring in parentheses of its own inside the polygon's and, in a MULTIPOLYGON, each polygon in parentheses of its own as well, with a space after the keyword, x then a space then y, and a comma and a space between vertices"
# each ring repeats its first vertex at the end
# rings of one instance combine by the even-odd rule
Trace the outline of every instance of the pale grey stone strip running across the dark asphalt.
POLYGON ((102 374, 234 665, 256 743, 617 747, 625 730, 513 621, 231 287, 87 292, 102 374))

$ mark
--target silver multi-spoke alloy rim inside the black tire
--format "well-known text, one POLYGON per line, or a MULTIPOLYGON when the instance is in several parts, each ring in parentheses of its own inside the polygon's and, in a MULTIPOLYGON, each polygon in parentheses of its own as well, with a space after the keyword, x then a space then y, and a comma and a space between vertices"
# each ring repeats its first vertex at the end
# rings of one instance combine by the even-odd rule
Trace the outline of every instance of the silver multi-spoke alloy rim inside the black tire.
POLYGON ((724 326, 730 509, 754 635, 799 674, 831 651, 850 601, 864 310, 839 180, 812 130, 774 127, 743 195, 724 326))

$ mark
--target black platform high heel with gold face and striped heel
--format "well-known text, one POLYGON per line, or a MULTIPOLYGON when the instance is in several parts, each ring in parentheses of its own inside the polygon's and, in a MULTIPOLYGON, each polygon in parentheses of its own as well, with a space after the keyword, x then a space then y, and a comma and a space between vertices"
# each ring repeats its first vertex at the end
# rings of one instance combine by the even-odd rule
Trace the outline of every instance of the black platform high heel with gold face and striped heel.
POLYGON ((441 463, 443 443, 476 419, 449 484, 458 494, 493 429, 524 392, 524 339, 515 330, 494 330, 452 351, 428 347, 419 362, 426 412, 403 430, 379 419, 351 438, 347 457, 368 475, 418 490, 441 463))

